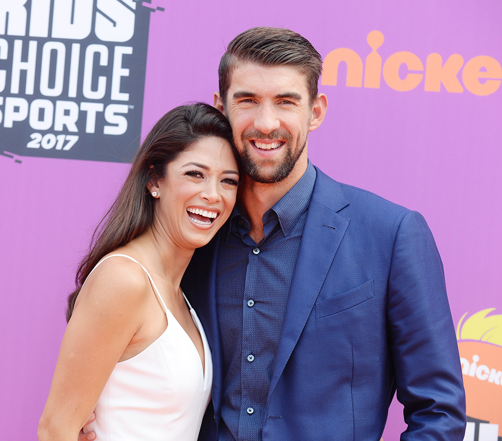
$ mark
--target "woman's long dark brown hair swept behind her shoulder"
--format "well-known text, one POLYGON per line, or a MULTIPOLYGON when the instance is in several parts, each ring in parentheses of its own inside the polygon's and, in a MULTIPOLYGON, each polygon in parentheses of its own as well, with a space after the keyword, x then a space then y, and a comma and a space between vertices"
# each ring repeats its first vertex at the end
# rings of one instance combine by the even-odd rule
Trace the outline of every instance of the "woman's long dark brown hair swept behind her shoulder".
POLYGON ((75 277, 77 289, 68 296, 66 321, 70 320, 77 295, 96 264, 106 254, 140 236, 152 223, 156 199, 147 190, 148 182, 163 178, 168 163, 195 141, 209 136, 223 138, 233 146, 226 118, 202 102, 172 109, 153 127, 126 182, 92 235, 90 251, 80 262, 75 277))

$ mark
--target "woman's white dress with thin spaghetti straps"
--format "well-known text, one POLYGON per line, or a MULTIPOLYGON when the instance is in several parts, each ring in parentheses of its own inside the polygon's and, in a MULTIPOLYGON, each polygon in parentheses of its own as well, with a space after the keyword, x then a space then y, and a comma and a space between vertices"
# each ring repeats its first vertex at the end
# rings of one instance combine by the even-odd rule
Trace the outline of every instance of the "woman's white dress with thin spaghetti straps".
MULTIPOLYGON (((105 259, 113 256, 141 265, 122 254, 105 259)), ((86 431, 96 432, 96 441, 196 441, 211 398, 213 373, 207 339, 185 297, 204 346, 203 372, 192 340, 167 309, 148 271, 141 267, 166 312, 168 326, 138 355, 116 364, 99 397, 96 419, 86 431)))

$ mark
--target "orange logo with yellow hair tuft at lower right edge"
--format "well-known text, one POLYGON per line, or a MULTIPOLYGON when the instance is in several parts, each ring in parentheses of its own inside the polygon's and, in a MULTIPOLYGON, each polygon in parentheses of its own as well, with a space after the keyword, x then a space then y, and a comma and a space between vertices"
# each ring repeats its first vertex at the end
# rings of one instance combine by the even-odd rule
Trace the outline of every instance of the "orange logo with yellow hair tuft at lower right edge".
POLYGON ((467 403, 464 441, 502 441, 502 315, 483 309, 458 322, 467 403))

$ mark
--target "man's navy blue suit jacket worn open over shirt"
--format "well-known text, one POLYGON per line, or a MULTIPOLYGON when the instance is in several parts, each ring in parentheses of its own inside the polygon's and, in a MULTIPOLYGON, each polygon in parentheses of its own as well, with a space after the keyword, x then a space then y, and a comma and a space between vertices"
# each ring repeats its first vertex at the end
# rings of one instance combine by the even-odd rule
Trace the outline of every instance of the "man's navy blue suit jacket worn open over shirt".
MULTIPOLYGON (((316 171, 263 439, 378 441, 397 388, 408 424, 403 441, 462 441, 458 349, 425 219, 316 171)), ((197 250, 183 280, 214 363, 201 440, 216 439, 223 390, 217 248, 218 237, 197 250)))

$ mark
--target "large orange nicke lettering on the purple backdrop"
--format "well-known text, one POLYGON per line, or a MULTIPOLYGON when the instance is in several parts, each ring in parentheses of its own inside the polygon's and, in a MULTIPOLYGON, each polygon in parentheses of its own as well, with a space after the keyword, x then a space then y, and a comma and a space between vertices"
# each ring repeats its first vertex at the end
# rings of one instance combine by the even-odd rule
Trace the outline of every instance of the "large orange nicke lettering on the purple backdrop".
POLYGON ((450 54, 443 63, 443 57, 431 53, 424 63, 412 52, 400 51, 390 55, 385 62, 377 52, 384 44, 384 34, 371 31, 366 38, 371 52, 362 58, 352 49, 338 48, 332 50, 323 63, 321 84, 336 86, 338 67, 341 62, 347 66, 345 85, 348 87, 364 87, 379 89, 381 78, 384 77, 389 87, 400 92, 406 92, 418 87, 423 81, 427 92, 441 91, 441 84, 450 93, 462 93, 464 87, 474 95, 490 95, 497 91, 502 80, 502 66, 493 57, 478 55, 464 64, 464 58, 459 54, 450 54), (404 69, 406 66, 406 69, 404 69), (462 83, 458 75, 462 72, 462 83))

